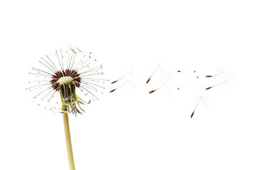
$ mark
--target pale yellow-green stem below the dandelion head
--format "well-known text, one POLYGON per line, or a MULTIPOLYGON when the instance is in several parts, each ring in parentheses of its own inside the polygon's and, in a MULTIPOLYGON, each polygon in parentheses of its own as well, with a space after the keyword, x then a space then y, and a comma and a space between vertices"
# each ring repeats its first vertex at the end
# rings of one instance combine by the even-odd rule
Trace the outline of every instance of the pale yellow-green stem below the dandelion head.
POLYGON ((68 123, 67 111, 64 111, 63 113, 63 120, 64 120, 64 129, 65 129, 65 140, 66 140, 67 151, 68 151, 68 162, 70 165, 70 170, 75 170, 75 163, 74 163, 74 157, 73 157, 73 151, 72 151, 72 145, 71 145, 70 128, 68 123))

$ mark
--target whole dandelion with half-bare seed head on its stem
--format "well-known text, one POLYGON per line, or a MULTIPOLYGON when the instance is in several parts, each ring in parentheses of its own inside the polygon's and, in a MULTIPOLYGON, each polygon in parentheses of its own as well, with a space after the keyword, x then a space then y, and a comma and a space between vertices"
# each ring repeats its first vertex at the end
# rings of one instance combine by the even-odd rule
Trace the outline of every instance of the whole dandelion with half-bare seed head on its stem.
POLYGON ((29 74, 36 80, 29 81, 29 84, 33 85, 27 89, 36 93, 34 98, 36 101, 41 101, 38 103, 39 106, 63 113, 68 160, 70 169, 75 169, 68 113, 77 115, 84 112, 81 105, 84 105, 85 101, 78 96, 78 90, 88 98, 87 103, 96 101, 98 100, 96 94, 100 92, 98 89, 102 89, 102 93, 105 87, 101 84, 107 80, 100 78, 103 74, 102 65, 97 64, 91 52, 70 48, 65 52, 55 51, 54 55, 41 57, 40 65, 32 67, 32 72, 29 74), (43 69, 39 69, 40 67, 43 69), (58 104, 58 99, 62 103, 61 108, 54 106, 58 104))

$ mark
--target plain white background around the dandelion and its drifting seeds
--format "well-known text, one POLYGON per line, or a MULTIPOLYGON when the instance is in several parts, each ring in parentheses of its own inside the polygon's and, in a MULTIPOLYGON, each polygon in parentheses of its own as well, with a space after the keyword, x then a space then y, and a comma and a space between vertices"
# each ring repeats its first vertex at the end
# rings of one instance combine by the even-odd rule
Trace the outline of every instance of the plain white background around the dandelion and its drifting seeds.
POLYGON ((76 169, 256 169, 255 8, 245 0, 1 1, 0 169, 68 169, 63 115, 36 106, 25 89, 33 63, 69 45, 93 52, 112 81, 133 66, 136 84, 112 94, 108 85, 83 115, 70 115, 76 169), (148 94, 157 64, 196 69, 202 85, 219 66, 234 77, 190 118, 193 91, 148 94))

